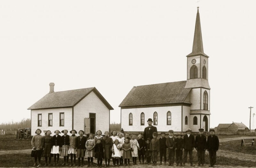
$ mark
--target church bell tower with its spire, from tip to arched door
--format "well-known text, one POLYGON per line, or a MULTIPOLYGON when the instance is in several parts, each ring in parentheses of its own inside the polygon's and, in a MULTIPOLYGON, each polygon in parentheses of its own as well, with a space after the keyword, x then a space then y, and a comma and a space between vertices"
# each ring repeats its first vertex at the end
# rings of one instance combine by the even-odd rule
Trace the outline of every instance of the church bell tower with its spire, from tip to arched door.
POLYGON ((209 131, 210 127, 210 86, 208 83, 208 58, 204 54, 201 33, 199 7, 195 20, 195 34, 192 52, 187 55, 187 81, 185 88, 190 91, 190 122, 192 129, 204 128, 209 131), (193 119, 193 120, 192 120, 193 119))

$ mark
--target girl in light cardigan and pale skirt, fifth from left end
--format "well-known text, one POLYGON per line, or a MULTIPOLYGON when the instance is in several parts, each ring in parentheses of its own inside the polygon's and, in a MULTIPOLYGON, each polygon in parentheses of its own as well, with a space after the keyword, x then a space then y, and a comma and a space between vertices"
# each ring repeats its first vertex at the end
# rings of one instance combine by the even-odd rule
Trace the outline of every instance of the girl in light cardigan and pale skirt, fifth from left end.
POLYGON ((72 165, 72 161, 73 161, 73 156, 74 156, 74 166, 75 166, 75 157, 76 157, 76 147, 77 147, 77 136, 75 134, 77 134, 76 130, 71 130, 70 133, 72 134, 69 137, 69 151, 68 154, 70 154, 70 165, 69 166, 73 166, 72 165))

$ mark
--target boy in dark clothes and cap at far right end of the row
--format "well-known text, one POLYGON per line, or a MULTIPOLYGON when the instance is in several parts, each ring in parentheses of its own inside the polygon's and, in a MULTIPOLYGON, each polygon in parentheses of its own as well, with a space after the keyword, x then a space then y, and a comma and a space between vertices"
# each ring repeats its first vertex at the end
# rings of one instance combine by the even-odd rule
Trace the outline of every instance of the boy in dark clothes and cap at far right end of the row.
POLYGON ((219 149, 219 138, 215 135, 215 130, 210 129, 210 134, 207 138, 207 150, 209 151, 210 165, 209 167, 215 167, 216 153, 219 149))

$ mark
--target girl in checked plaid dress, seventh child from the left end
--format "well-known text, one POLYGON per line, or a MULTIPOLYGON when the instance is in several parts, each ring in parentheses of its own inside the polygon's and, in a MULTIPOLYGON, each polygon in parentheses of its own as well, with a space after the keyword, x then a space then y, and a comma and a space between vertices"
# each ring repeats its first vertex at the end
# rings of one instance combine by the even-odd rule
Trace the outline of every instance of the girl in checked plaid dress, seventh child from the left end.
MULTIPOLYGON (((85 147, 86 147, 85 157, 88 158, 88 167, 90 166, 90 159, 91 159, 91 163, 93 164, 94 146, 95 146, 95 141, 93 139, 93 134, 90 133, 89 139, 87 139, 85 144, 85 147)), ((91 167, 92 167, 92 164, 91 164, 91 167)))

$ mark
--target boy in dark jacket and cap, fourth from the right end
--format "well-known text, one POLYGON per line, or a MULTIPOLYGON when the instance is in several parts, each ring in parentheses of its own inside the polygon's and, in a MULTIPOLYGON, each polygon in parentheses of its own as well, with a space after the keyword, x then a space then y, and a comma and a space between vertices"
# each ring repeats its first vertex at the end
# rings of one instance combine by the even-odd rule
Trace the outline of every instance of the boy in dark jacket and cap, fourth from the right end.
POLYGON ((176 166, 180 164, 182 166, 182 154, 183 154, 183 139, 181 134, 177 134, 177 138, 174 141, 175 144, 175 155, 176 155, 176 166))

